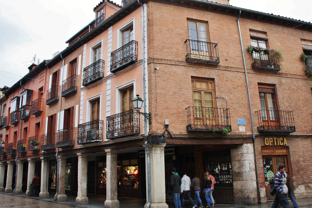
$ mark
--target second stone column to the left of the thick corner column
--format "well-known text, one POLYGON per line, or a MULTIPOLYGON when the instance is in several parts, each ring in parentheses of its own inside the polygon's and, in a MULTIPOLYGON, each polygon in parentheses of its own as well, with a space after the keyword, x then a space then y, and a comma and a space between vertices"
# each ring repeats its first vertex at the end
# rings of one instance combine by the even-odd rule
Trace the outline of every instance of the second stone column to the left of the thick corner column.
POLYGON ((78 155, 78 193, 76 198, 76 204, 83 205, 88 204, 89 199, 87 197, 87 154, 77 153, 78 155))

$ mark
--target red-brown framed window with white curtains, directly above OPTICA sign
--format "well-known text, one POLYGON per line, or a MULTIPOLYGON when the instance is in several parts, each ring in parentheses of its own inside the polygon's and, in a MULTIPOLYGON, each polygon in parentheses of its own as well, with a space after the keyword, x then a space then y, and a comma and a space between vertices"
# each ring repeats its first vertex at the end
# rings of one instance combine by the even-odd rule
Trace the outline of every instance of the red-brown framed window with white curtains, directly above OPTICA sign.
POLYGON ((273 85, 258 85, 258 89, 263 125, 279 126, 275 87, 273 85))

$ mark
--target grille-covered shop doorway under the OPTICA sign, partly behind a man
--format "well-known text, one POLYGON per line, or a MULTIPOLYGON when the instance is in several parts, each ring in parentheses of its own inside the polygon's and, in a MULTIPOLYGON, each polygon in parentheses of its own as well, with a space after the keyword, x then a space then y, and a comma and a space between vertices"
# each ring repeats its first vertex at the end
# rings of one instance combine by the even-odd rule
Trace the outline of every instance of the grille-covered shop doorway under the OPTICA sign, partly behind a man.
POLYGON ((264 177, 266 183, 266 198, 267 200, 274 200, 275 196, 270 195, 269 181, 274 178, 275 174, 278 172, 278 166, 285 165, 286 170, 288 168, 287 155, 278 156, 263 156, 263 167, 264 167, 264 177))

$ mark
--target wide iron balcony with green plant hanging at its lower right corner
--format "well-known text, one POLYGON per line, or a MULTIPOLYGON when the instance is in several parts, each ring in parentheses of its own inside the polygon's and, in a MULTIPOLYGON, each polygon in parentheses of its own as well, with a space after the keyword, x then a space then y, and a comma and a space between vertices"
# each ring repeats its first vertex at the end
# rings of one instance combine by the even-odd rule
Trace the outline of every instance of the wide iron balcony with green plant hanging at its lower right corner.
POLYGON ((223 132, 232 131, 230 109, 190 106, 186 108, 188 116, 188 132, 223 132))

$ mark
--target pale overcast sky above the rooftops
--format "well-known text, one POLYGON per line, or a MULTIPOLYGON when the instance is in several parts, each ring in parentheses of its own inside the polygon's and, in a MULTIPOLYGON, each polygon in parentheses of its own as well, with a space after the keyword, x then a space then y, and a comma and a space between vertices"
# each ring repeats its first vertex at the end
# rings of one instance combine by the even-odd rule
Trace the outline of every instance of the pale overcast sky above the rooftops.
MULTIPOLYGON (((93 8, 100 2, 0 0, 0 87, 11 87, 26 75, 34 54, 41 62, 63 51, 68 46, 65 41, 94 20, 93 8)), ((114 2, 121 4, 121 0, 114 2)), ((311 0, 230 0, 230 4, 312 21, 311 0)))

